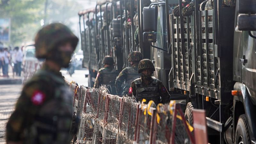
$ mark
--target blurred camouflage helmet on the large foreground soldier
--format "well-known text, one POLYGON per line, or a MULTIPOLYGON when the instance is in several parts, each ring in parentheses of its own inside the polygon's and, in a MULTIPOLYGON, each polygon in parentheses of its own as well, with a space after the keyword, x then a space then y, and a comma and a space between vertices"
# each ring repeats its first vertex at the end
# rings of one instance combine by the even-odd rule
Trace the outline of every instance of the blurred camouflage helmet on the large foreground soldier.
POLYGON ((40 29, 35 37, 36 57, 48 58, 61 42, 69 41, 73 50, 76 49, 78 38, 61 23, 52 23, 40 29))

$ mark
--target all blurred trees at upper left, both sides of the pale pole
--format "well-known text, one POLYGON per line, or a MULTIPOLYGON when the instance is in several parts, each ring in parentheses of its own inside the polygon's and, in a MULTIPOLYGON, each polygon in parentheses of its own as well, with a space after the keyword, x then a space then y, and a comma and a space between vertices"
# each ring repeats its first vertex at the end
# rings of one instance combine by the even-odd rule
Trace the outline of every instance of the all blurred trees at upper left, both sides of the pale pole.
POLYGON ((0 18, 11 18, 12 45, 33 41, 39 28, 40 21, 44 19, 46 4, 45 24, 62 22, 68 26, 74 24, 70 20, 76 17, 82 7, 73 0, 0 0, 0 18))

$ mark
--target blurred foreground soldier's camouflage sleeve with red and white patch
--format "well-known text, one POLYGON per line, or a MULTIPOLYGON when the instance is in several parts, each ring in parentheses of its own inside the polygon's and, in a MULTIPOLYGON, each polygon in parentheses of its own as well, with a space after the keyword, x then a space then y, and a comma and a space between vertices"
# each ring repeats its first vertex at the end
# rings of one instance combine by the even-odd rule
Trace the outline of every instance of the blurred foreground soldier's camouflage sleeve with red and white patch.
POLYGON ((17 100, 15 110, 6 124, 7 143, 22 142, 24 130, 34 122, 34 118, 41 105, 48 99, 47 95, 52 93, 49 84, 30 83, 26 84, 17 100))

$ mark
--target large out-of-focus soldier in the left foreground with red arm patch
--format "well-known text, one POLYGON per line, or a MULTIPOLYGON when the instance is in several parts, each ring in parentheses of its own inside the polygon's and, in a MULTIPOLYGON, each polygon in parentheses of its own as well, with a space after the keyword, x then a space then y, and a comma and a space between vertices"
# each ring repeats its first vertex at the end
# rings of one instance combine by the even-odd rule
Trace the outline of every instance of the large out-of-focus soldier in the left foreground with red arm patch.
POLYGON ((45 62, 23 87, 6 125, 7 144, 70 143, 73 100, 60 68, 68 67, 77 42, 61 23, 47 25, 36 34, 36 57, 45 62))

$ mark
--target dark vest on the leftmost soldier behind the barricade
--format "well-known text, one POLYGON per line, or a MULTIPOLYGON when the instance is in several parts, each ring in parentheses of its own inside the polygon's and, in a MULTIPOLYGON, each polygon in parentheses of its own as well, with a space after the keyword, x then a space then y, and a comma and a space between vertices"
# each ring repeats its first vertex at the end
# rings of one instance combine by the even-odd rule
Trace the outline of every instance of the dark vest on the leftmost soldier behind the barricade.
POLYGON ((113 95, 116 95, 116 88, 115 88, 115 82, 116 82, 116 76, 118 75, 118 72, 116 69, 112 69, 112 71, 109 71, 107 68, 102 69, 102 85, 110 85, 111 89, 108 88, 109 92, 113 95))

